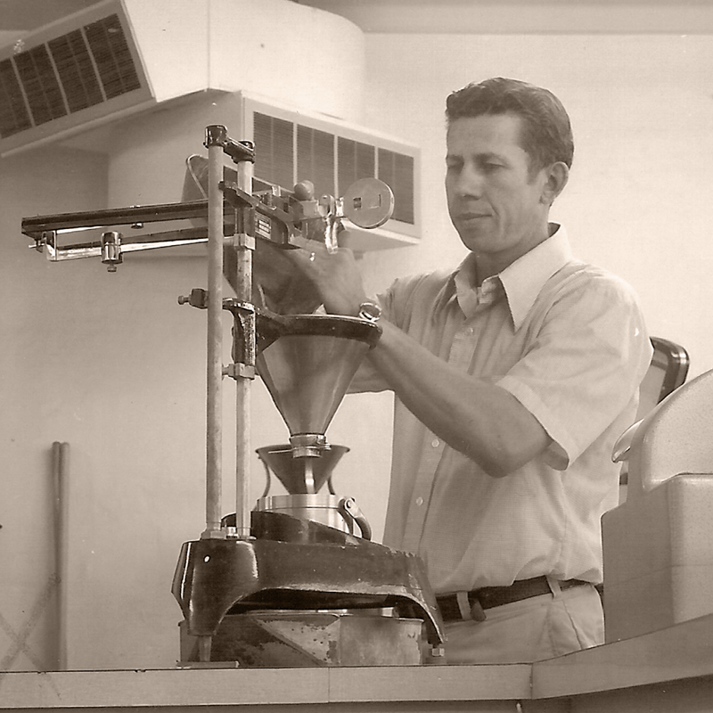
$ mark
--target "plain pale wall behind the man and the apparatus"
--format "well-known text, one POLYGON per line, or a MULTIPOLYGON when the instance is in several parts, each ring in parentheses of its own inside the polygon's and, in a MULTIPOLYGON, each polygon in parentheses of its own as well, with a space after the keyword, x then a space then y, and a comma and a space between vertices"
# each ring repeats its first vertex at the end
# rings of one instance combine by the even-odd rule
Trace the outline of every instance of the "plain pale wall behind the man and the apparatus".
MULTIPOLYGON (((576 251, 635 285, 652 332, 689 348, 693 373, 713 367, 701 328, 713 289, 711 47, 709 37, 367 36, 365 125, 422 145, 425 225, 419 247, 364 258, 370 290, 462 257, 442 188, 445 95, 471 79, 525 78, 552 88, 573 119, 575 168, 554 214, 576 251)), ((118 156, 132 144, 119 138, 118 156)), ((53 667, 54 440, 70 443, 70 668, 172 666, 177 657, 171 576, 181 543, 204 524, 205 318, 176 296, 204 283, 205 266, 165 256, 127 258, 116 275, 98 261, 50 265, 19 230, 21 217, 118 198, 109 163, 57 148, 0 161, 0 614, 27 634, 17 650, 0 627, 6 668, 53 667)), ((142 170, 127 168, 121 198, 142 170)), ((254 446, 283 442, 259 386, 254 408, 254 446)), ((231 419, 228 398, 228 433, 231 419)), ((356 496, 377 533, 389 419, 389 397, 348 397, 329 433, 352 447, 337 487, 356 496)), ((231 459, 226 438, 226 512, 231 459)), ((258 495, 257 461, 255 472, 258 495)))

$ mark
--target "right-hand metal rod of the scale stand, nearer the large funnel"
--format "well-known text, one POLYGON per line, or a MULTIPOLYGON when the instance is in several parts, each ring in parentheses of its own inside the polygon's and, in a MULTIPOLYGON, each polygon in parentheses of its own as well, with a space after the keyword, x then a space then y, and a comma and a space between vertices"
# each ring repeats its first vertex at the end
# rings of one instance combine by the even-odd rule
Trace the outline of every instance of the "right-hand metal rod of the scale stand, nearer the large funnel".
MULTIPOLYGON (((242 160, 237 165, 238 188, 252 193, 252 162, 242 160)), ((242 234, 237 245, 237 298, 252 302, 252 250, 255 238, 247 234, 250 221, 242 220, 242 234)), ((254 324, 254 323, 253 323, 254 324)), ((255 335, 245 335, 246 340, 255 335)), ((238 537, 250 537, 250 375, 235 381, 235 529, 238 537)))

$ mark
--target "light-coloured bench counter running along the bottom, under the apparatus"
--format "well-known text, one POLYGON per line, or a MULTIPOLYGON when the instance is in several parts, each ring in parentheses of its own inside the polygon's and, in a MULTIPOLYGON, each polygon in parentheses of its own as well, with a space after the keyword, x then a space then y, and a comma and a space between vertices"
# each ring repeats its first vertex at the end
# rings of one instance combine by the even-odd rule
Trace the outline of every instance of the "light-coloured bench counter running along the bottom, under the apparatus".
MULTIPOLYGON (((218 664, 217 664, 218 666, 218 664)), ((713 711, 713 615, 534 664, 0 673, 0 709, 713 711)))

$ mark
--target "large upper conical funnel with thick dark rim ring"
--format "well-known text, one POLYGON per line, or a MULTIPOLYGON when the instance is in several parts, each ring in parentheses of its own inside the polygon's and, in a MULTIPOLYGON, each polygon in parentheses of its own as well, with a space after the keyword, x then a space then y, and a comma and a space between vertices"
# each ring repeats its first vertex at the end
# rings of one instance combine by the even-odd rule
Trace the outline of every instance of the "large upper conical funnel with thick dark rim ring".
POLYGON ((355 317, 297 315, 270 324, 271 338, 275 329, 276 339, 258 351, 258 373, 291 436, 324 434, 381 328, 355 317))

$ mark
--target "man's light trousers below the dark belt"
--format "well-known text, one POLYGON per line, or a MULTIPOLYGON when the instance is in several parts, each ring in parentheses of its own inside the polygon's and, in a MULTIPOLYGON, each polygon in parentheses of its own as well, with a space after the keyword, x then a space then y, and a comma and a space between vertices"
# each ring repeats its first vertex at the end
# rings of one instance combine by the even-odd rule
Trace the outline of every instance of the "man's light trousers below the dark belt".
POLYGON ((446 624, 448 664, 529 663, 604 643, 602 601, 594 586, 542 594, 485 613, 485 621, 446 624))

